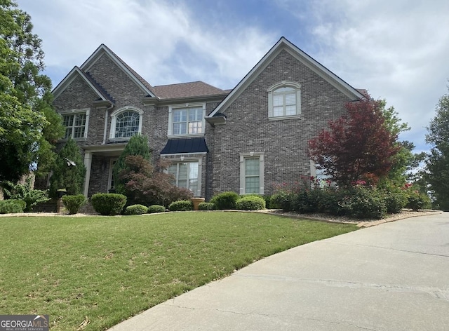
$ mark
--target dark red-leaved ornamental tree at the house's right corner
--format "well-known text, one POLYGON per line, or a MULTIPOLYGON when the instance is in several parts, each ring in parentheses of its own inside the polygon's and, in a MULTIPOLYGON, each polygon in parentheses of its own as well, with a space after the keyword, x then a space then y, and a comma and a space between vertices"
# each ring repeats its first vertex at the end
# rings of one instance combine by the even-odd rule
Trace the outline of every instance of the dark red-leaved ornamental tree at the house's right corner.
POLYGON ((397 135, 384 125, 379 100, 348 102, 345 108, 346 115, 309 141, 311 160, 340 187, 360 180, 376 184, 394 163, 397 135))

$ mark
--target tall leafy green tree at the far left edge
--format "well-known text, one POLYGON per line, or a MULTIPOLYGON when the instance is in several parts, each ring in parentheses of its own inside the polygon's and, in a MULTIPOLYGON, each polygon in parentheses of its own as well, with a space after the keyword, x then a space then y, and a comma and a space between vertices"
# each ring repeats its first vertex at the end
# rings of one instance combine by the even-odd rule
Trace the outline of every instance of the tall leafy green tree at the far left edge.
MULTIPOLYGON (((41 39, 13 0, 0 1, 0 180, 17 181, 32 163, 48 171, 60 117, 51 108, 51 81, 41 39)), ((38 171, 39 173, 39 171, 38 171)))

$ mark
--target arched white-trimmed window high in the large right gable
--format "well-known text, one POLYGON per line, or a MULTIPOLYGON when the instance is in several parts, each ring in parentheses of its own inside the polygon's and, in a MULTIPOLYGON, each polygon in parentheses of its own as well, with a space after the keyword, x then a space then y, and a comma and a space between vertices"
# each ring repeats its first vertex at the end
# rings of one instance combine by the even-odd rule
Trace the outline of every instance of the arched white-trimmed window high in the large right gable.
POLYGON ((282 81, 268 89, 269 119, 285 119, 301 114, 301 85, 282 81))

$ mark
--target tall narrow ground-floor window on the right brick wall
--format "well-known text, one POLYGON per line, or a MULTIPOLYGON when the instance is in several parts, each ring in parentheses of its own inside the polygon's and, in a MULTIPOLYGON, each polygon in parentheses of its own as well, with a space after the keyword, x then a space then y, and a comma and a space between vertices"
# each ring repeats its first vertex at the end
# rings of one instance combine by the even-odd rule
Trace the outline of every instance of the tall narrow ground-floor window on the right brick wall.
POLYGON ((240 154, 240 194, 264 194, 263 153, 240 154))

